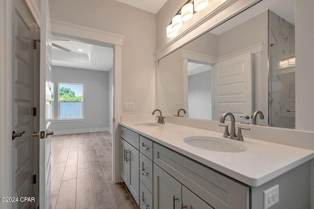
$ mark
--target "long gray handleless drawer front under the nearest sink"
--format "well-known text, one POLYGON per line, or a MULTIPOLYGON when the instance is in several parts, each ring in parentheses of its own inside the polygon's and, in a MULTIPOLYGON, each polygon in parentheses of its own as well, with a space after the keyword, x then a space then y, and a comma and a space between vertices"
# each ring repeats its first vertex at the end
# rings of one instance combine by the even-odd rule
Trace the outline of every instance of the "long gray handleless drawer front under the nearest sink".
POLYGON ((249 209, 249 186, 157 143, 154 163, 215 209, 249 209))

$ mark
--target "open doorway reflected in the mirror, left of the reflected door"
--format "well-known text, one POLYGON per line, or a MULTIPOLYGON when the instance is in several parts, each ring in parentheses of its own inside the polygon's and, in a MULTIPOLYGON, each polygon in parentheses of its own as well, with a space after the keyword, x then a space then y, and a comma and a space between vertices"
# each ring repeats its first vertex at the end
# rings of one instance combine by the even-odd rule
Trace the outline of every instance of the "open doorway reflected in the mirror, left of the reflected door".
POLYGON ((188 109, 187 116, 190 118, 211 120, 211 85, 212 66, 205 63, 197 63, 188 60, 188 109))

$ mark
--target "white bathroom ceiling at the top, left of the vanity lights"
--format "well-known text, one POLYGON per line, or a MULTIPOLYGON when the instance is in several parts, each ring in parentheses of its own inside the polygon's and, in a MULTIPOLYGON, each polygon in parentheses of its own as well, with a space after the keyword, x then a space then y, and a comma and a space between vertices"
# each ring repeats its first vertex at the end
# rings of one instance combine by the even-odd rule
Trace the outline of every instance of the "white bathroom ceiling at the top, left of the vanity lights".
POLYGON ((156 14, 167 0, 116 0, 156 14))

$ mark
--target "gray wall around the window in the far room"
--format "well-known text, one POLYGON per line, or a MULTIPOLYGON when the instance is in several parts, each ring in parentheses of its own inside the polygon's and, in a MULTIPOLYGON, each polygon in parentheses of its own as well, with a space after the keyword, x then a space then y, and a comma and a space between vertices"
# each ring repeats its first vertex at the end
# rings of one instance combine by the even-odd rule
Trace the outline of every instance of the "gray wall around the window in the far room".
POLYGON ((52 66, 54 82, 54 120, 58 116, 58 83, 83 84, 84 121, 52 121, 52 130, 56 134, 104 131, 109 127, 109 82, 108 72, 52 66), (100 124, 100 121, 102 124, 100 124))

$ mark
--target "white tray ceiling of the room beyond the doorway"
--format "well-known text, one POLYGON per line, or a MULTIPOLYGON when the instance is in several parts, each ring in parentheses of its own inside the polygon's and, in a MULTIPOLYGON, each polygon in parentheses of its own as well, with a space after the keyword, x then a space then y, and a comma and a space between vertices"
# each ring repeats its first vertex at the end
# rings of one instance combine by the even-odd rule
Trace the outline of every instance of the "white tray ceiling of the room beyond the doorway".
POLYGON ((109 71, 113 67, 113 48, 76 41, 52 41, 72 50, 66 52, 52 46, 52 65, 69 68, 109 71), (78 48, 83 51, 78 51, 78 48))

